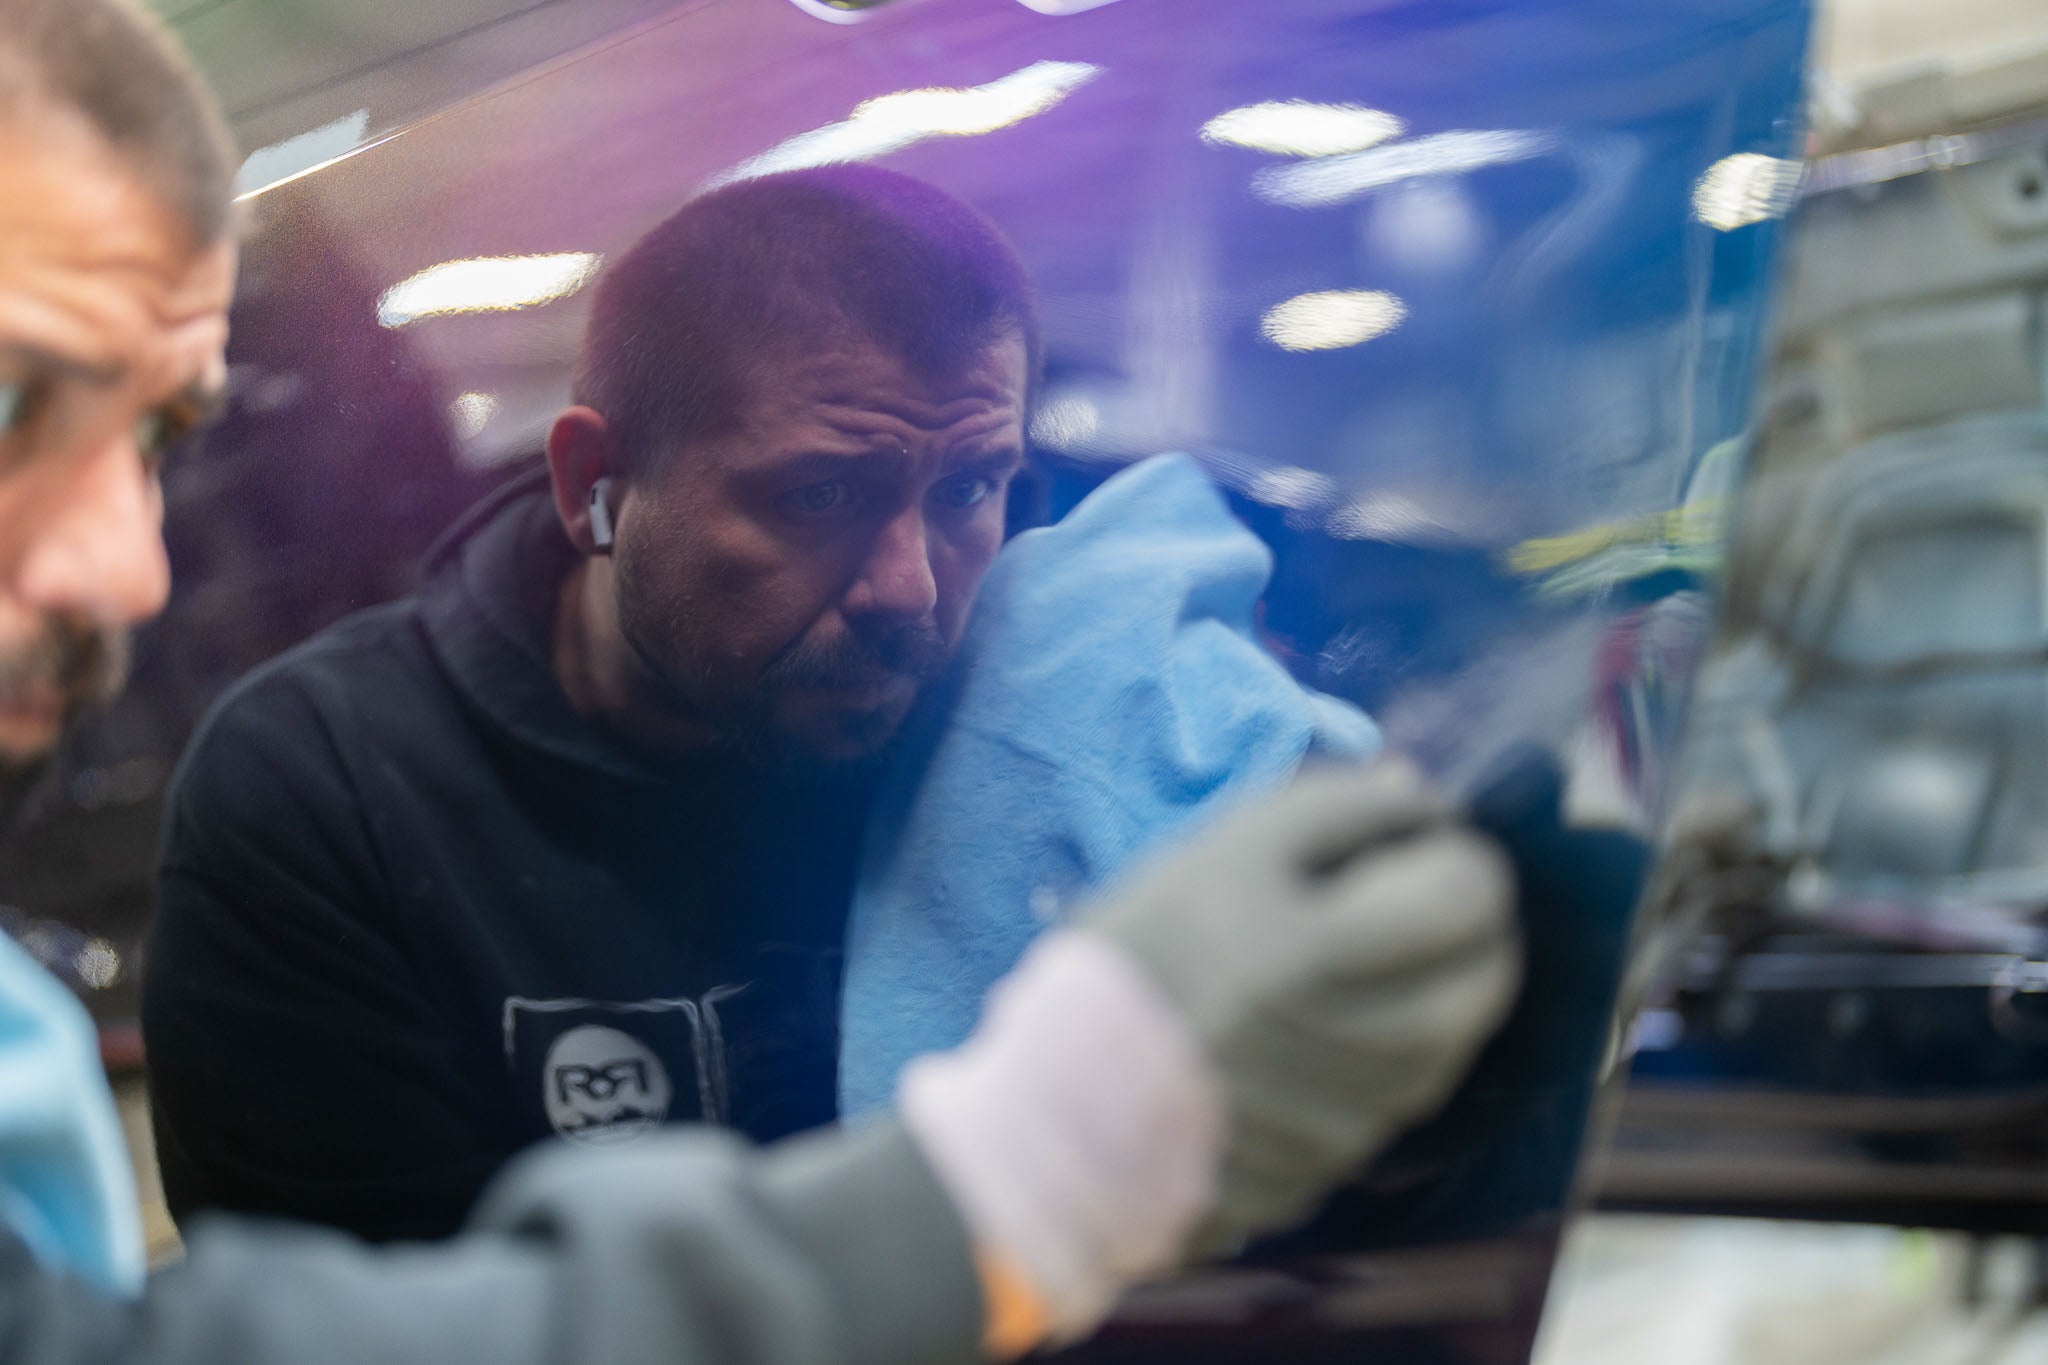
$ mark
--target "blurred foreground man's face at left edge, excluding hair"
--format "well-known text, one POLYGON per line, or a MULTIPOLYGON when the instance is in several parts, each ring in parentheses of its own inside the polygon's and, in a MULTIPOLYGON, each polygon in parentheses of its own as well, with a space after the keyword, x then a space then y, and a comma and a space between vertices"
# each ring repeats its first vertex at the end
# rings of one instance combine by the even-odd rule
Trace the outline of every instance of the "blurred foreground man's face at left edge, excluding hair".
POLYGON ((0 782, 119 690, 164 606, 156 463, 215 399, 233 248, 84 125, 0 119, 0 782))

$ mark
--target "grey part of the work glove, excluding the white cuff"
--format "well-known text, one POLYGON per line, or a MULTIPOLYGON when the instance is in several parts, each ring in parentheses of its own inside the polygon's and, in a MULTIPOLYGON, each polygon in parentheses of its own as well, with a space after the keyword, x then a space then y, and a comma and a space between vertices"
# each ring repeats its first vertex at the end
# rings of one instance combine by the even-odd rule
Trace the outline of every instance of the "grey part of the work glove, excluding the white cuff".
POLYGON ((1122 945, 1223 1078, 1194 1252, 1307 1214, 1434 1113, 1520 984, 1513 878, 1397 761, 1323 772, 1202 833, 1081 927, 1122 945))

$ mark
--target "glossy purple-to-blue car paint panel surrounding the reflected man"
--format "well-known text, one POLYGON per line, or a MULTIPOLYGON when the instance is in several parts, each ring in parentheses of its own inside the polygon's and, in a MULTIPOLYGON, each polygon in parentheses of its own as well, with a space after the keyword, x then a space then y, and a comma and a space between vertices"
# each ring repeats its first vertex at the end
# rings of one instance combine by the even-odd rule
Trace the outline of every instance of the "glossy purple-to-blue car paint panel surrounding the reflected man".
MULTIPOLYGON (((1047 514, 1122 463, 1194 452, 1278 555, 1266 626, 1300 677, 1460 792, 1499 800, 1491 774, 1550 755, 1563 806, 1599 829, 1534 819, 1556 796, 1542 778, 1497 810, 1524 853, 1532 986, 1452 1113, 1307 1234, 1139 1295, 1083 1351, 1524 1359, 1610 1056, 1642 870, 1626 831, 1661 808, 1741 471, 1806 6, 905 0, 838 25, 717 0, 631 18, 379 111, 348 156, 248 201, 236 405, 168 483, 172 610, 0 876, 129 958, 156 798, 199 710, 401 591, 432 532, 535 458, 582 295, 401 321, 393 287, 614 252, 754 158, 854 147, 987 211, 1034 268, 1047 514), (881 98, 928 90, 977 94, 881 98), (1399 127, 1294 151, 1212 127, 1288 100, 1399 127), (1354 344, 1280 344, 1346 327, 1354 344)), ((113 1025, 123 980, 88 988, 113 1025)))

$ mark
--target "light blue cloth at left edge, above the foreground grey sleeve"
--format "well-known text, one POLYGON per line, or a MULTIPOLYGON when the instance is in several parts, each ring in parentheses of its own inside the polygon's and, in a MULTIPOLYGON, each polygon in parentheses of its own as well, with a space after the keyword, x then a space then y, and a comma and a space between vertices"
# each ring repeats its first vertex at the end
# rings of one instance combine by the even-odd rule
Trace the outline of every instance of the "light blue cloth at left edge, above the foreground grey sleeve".
POLYGON ((0 935, 0 1224, 49 1267, 115 1293, 143 1279, 135 1175, 70 990, 0 935))

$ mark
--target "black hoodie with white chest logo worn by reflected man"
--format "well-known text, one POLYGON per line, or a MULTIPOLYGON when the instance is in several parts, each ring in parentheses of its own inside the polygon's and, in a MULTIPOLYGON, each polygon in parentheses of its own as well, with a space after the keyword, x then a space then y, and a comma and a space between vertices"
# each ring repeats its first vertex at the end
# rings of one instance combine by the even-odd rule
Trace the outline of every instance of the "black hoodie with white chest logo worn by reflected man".
POLYGON ((416 598, 317 634, 201 724, 143 986, 172 1212, 453 1232, 514 1152, 834 1113, 866 796, 655 767, 549 667, 573 563, 545 471, 416 598))

